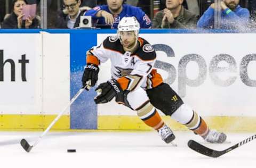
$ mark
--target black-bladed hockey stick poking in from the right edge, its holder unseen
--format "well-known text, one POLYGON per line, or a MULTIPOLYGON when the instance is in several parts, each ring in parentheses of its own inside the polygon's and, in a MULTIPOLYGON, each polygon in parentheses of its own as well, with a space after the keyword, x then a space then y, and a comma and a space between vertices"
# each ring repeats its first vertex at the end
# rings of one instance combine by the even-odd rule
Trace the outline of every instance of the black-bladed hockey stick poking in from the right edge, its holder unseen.
POLYGON ((251 137, 249 137, 249 138, 247 138, 247 139, 245 139, 245 140, 243 140, 225 150, 220 150, 220 151, 207 148, 194 140, 188 141, 188 147, 195 150, 198 153, 201 153, 201 154, 209 156, 209 157, 219 157, 223 154, 230 152, 231 150, 234 150, 235 148, 238 148, 239 146, 246 144, 247 142, 252 141, 255 138, 256 138, 256 135, 253 135, 253 136, 251 136, 251 137))

